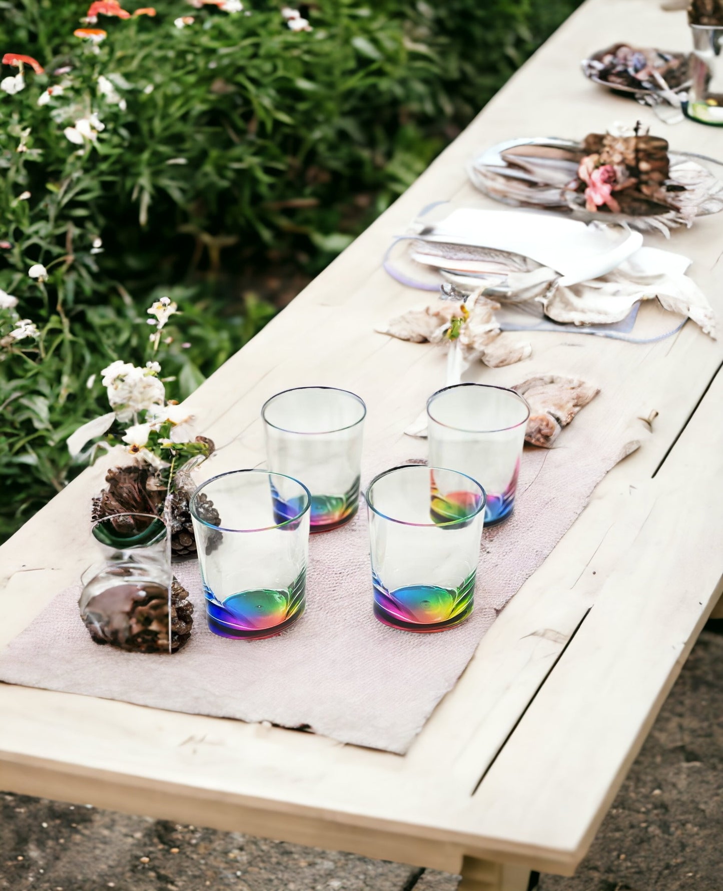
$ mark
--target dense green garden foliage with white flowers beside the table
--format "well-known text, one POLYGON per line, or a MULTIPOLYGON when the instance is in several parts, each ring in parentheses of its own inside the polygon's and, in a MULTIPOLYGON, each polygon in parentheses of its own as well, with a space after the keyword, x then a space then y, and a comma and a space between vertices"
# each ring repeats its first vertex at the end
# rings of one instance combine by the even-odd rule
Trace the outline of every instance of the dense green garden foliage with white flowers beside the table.
POLYGON ((108 410, 105 365, 142 362, 153 299, 183 310, 163 364, 183 399, 273 315, 245 271, 318 272, 574 5, 323 0, 295 32, 268 0, 159 0, 88 25, 96 50, 73 36, 83 0, 0 0, 0 53, 45 67, 0 92, 0 289, 20 300, 0 344, 19 317, 40 330, 0 346, 0 539, 80 470, 65 438, 108 410))

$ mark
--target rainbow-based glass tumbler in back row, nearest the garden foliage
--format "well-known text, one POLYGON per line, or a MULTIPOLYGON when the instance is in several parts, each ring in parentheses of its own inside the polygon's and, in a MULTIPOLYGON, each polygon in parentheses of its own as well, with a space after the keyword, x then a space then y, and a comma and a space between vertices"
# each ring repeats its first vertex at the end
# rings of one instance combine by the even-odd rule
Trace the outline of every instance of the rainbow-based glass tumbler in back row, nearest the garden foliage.
POLYGON ((261 410, 269 470, 308 486, 312 532, 336 529, 359 510, 366 413, 359 396, 334 387, 284 390, 261 410))

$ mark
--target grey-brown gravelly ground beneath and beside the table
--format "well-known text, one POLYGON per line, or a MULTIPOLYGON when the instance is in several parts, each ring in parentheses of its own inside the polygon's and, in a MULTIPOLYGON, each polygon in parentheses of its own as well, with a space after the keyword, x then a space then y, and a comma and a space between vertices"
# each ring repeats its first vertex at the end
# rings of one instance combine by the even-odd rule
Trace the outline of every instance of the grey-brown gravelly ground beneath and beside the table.
MULTIPOLYGON (((723 622, 701 635, 589 856, 539 891, 721 891, 723 622)), ((0 794, 9 891, 456 891, 459 877, 0 794)))

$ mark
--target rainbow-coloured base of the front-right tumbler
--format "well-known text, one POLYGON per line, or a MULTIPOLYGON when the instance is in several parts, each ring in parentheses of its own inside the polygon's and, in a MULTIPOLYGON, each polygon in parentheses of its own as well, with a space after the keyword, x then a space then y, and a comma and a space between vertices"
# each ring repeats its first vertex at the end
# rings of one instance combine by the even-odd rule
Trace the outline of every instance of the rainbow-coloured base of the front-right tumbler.
POLYGON ((459 588, 435 584, 407 584, 388 591, 372 575, 374 615, 384 625, 418 634, 446 631, 464 622, 475 607, 475 572, 459 588))

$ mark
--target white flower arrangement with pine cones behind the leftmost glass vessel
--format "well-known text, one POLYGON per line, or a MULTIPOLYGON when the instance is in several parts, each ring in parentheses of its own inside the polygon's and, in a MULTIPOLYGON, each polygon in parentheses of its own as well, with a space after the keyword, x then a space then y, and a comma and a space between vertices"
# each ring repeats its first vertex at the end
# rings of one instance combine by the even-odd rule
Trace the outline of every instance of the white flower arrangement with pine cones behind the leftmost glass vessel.
MULTIPOLYGON (((150 334, 155 355, 161 332, 178 307, 165 297, 148 312, 148 323, 155 328, 150 334)), ((214 444, 207 437, 183 438, 182 425, 191 421, 191 414, 175 400, 166 399, 160 370, 156 359, 143 367, 117 360, 104 368, 102 383, 111 411, 78 428, 69 437, 68 447, 70 454, 77 455, 88 442, 104 437, 90 450, 91 461, 100 449, 126 456, 123 466, 108 471, 108 488, 93 498, 93 520, 125 512, 161 514, 167 495, 171 495, 172 552, 175 557, 190 557, 196 553, 189 508, 190 470, 214 451, 214 444)), ((212 502, 203 502, 201 508, 208 522, 220 522, 212 502)))

